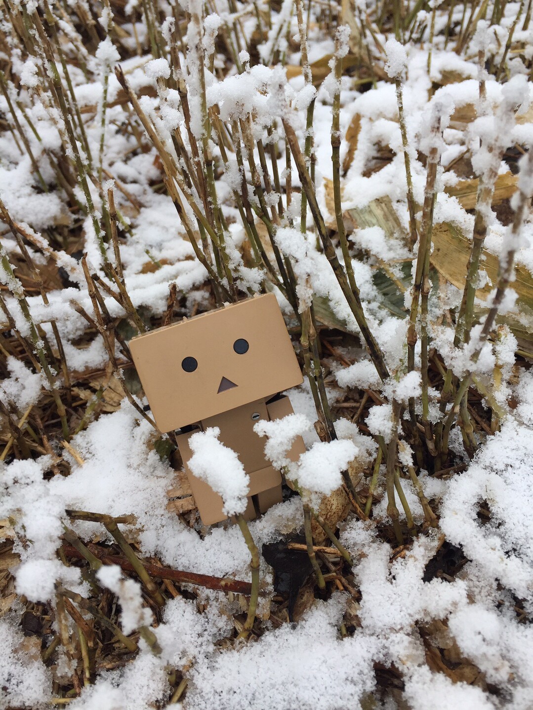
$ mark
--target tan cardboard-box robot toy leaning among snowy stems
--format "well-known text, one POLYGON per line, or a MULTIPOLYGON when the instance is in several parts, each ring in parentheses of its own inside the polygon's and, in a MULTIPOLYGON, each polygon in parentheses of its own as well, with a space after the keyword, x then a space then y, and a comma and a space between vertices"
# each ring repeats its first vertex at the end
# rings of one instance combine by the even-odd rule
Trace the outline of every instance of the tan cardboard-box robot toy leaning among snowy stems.
MULTIPOLYGON (((256 296, 145 333, 129 344, 161 432, 178 447, 204 525, 225 520, 222 498, 188 469, 188 439, 208 427, 237 452, 249 475, 248 520, 281 502, 281 474, 264 457, 257 420, 293 413, 286 395, 303 378, 274 294, 256 296)), ((305 451, 298 437, 289 452, 305 451)))

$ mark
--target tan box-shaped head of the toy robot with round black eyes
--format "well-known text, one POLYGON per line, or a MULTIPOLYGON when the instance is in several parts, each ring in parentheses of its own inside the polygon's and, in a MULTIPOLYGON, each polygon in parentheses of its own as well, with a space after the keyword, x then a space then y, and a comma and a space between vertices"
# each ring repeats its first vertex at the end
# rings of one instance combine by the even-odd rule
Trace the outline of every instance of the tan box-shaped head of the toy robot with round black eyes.
POLYGON ((140 335, 129 347, 161 432, 302 382, 274 294, 140 335))

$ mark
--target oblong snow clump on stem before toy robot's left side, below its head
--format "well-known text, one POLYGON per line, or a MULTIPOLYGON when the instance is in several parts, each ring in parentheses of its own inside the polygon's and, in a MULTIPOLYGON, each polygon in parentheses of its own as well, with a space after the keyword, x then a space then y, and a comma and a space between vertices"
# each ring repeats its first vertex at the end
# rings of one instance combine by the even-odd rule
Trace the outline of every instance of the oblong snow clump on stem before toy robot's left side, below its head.
POLYGON ((225 447, 219 436, 218 427, 193 434, 189 439, 193 456, 188 465, 195 476, 222 497, 222 512, 231 517, 246 510, 250 479, 235 451, 225 447))

